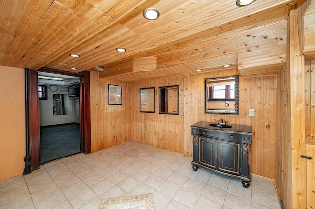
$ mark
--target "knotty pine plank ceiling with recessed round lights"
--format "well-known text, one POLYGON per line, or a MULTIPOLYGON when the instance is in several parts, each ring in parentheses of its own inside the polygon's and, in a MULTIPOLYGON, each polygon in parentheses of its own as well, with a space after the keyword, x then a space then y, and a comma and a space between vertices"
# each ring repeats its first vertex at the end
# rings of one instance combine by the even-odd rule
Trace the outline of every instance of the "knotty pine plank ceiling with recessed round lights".
MULTIPOLYGON (((235 1, 0 0, 0 65, 70 72, 103 66, 101 78, 123 82, 224 64, 244 77, 277 73, 286 61, 292 0, 256 0, 245 7, 235 1), (142 16, 148 7, 160 11, 157 20, 142 16)), ((314 24, 308 20, 314 20, 315 8, 310 8, 305 49, 312 52, 314 24)))

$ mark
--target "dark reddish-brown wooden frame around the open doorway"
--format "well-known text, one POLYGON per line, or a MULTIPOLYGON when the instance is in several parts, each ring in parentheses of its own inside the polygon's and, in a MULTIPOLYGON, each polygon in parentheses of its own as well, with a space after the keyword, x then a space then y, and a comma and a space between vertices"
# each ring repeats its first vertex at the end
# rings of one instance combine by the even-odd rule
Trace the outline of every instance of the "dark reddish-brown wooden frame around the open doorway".
MULTIPOLYGON (((90 113, 90 71, 71 73, 51 68, 38 71, 56 73, 80 78, 80 149, 84 154, 91 153, 91 113, 90 113)), ((29 70, 29 132, 30 155, 33 170, 40 165, 40 118, 37 71, 29 70)))

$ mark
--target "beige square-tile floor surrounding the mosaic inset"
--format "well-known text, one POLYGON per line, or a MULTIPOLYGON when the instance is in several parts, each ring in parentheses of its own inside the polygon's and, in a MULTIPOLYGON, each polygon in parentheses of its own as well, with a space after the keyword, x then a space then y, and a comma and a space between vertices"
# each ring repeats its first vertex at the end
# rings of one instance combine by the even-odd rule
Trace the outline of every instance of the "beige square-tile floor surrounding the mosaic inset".
POLYGON ((97 209, 102 199, 153 193, 156 209, 280 209, 274 182, 241 180, 137 142, 47 163, 0 181, 0 209, 97 209))

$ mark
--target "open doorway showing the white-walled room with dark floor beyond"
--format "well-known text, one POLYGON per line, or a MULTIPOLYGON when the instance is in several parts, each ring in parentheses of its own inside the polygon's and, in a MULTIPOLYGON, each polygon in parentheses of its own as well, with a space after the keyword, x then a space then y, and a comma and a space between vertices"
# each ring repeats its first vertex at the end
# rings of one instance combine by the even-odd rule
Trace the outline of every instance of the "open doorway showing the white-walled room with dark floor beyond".
POLYGON ((81 152, 80 78, 38 71, 40 164, 81 152))

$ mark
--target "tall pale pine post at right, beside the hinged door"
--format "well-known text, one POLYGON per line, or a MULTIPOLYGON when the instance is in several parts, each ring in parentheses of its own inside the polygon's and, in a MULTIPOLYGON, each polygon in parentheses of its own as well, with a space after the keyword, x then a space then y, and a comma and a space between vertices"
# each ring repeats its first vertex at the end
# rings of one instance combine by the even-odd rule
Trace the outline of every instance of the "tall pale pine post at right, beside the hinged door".
MULTIPOLYGON (((304 92, 304 57, 300 56, 298 37, 297 9, 291 8, 288 20, 288 72, 289 111, 291 131, 292 167, 292 205, 288 208, 306 208, 306 159, 305 155, 305 92, 304 92)), ((290 201, 290 200, 289 200, 290 201)))

